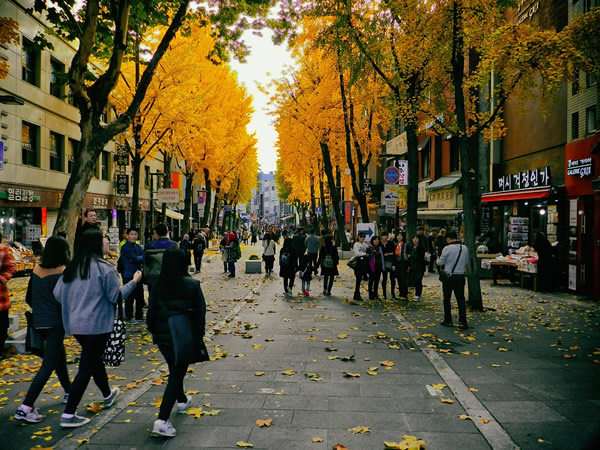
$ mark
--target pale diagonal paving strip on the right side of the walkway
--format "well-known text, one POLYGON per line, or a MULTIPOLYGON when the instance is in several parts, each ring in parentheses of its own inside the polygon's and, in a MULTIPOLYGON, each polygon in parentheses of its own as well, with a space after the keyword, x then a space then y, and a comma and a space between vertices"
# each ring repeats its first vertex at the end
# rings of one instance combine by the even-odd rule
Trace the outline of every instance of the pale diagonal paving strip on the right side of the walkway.
POLYGON ((404 328, 404 331, 414 339, 415 345, 419 347, 419 350, 427 357, 431 365, 439 373, 440 377, 442 377, 446 385, 450 388, 458 402, 466 411, 467 415, 471 417, 473 424, 490 444, 490 447, 494 450, 519 449, 520 447, 514 443, 508 433, 496 421, 486 407, 483 406, 479 399, 469 391, 469 388, 464 381, 448 365, 444 358, 433 349, 427 348, 429 343, 421 338, 414 326, 399 312, 390 312, 404 328), (480 422, 480 419, 488 419, 489 422, 483 424, 480 422))

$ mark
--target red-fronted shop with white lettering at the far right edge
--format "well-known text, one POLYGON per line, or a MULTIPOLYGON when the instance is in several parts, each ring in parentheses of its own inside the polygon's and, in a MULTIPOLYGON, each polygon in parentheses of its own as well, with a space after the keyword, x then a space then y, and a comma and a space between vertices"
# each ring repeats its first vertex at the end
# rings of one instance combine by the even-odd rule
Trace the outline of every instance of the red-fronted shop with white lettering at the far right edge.
POLYGON ((568 289, 600 300, 600 135, 567 144, 568 289))

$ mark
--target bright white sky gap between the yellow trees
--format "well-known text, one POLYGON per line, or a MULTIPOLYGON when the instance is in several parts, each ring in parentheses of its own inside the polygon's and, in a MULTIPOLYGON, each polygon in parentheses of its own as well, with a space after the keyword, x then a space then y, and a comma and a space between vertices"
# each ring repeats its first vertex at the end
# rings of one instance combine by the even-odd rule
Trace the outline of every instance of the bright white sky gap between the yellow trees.
POLYGON ((236 60, 231 62, 237 71, 238 79, 252 95, 254 114, 250 122, 249 132, 256 133, 258 140, 258 164, 263 172, 275 170, 277 153, 275 142, 277 133, 271 125, 272 117, 267 114, 268 97, 258 89, 258 84, 266 86, 273 78, 282 76, 286 66, 292 65, 292 58, 285 44, 275 45, 271 41, 271 32, 265 30, 263 36, 255 36, 246 32, 244 40, 251 49, 251 54, 244 64, 236 60))

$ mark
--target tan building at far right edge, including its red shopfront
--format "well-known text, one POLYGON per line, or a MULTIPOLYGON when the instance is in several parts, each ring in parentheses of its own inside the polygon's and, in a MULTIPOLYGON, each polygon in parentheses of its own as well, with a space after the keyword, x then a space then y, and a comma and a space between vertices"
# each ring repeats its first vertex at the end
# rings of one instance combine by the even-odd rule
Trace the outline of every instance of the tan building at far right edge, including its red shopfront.
MULTIPOLYGON (((569 22, 598 0, 569 0, 569 22)), ((600 300, 600 126, 598 74, 580 73, 567 89, 564 179, 568 197, 568 289, 600 300)))

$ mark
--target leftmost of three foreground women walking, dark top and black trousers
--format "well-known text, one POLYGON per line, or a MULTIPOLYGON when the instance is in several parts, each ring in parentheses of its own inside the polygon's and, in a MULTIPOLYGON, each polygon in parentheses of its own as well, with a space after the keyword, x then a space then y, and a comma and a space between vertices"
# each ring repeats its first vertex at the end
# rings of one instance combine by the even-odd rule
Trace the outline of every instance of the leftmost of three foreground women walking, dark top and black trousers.
POLYGON ((63 402, 69 398, 71 380, 67 372, 63 327, 60 303, 54 298, 52 291, 58 282, 65 265, 69 262, 71 252, 68 242, 59 236, 52 236, 46 242, 42 253, 42 261, 36 265, 29 279, 25 300, 33 312, 33 327, 46 341, 42 366, 29 386, 27 395, 15 413, 15 419, 28 423, 40 422, 42 416, 34 407, 40 392, 56 371, 56 376, 65 391, 63 402))

